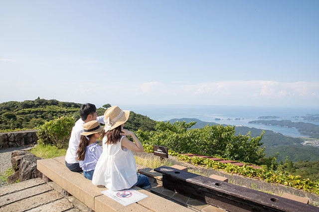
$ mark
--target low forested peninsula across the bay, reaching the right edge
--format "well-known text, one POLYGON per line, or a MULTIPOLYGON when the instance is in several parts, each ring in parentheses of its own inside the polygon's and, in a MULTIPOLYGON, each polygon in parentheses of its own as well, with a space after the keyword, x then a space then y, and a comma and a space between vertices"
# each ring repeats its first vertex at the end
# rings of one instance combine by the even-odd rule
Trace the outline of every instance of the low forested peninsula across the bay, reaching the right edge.
POLYGON ((306 122, 293 122, 291 120, 254 120, 248 123, 259 123, 264 125, 275 125, 281 127, 297 128, 300 134, 308 135, 311 138, 319 138, 319 125, 306 122))

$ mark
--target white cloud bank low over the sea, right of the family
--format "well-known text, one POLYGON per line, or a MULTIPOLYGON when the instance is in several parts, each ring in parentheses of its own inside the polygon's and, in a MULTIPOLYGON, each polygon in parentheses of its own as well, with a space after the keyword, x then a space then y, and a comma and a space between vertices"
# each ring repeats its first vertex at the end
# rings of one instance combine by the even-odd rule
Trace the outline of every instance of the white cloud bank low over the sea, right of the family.
POLYGON ((222 81, 189 84, 149 82, 140 85, 139 96, 152 102, 215 105, 319 104, 318 82, 222 81), (152 94, 152 96, 150 96, 152 94), (154 99, 152 99, 154 98, 154 99), (160 101, 161 99, 164 99, 160 101))

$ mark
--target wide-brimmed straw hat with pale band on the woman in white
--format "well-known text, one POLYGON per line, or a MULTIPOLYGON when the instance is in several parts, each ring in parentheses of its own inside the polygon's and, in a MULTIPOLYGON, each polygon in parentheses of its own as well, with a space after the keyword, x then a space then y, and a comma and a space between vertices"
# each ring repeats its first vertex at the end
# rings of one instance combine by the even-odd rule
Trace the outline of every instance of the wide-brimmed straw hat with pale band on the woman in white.
POLYGON ((122 110, 118 106, 109 107, 104 113, 104 130, 112 130, 121 124, 124 124, 130 116, 130 110, 122 110))

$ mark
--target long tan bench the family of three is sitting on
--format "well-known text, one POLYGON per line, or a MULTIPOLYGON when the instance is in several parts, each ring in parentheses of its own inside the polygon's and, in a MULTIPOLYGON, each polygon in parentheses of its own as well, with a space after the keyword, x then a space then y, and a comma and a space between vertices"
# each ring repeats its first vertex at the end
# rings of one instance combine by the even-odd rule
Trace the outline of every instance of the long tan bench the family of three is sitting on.
POLYGON ((84 203, 95 212, 130 211, 130 212, 176 212, 192 211, 176 203, 170 202, 151 192, 139 187, 133 189, 147 195, 148 197, 137 203, 123 206, 120 203, 103 195, 101 192, 107 190, 104 186, 94 186, 92 182, 85 179, 81 173, 71 172, 64 164, 64 156, 37 160, 37 169, 50 180, 62 187, 76 199, 84 203))

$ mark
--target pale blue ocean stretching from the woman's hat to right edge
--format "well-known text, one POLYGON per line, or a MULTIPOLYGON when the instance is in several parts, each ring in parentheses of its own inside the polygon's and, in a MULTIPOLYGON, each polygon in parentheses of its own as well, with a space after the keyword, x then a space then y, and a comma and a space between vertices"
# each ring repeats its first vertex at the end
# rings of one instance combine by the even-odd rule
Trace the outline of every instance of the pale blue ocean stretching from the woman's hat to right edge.
POLYGON ((301 116, 318 114, 318 108, 284 108, 262 106, 200 106, 200 105, 121 105, 123 109, 147 115, 157 121, 165 121, 172 118, 197 118, 202 121, 218 124, 242 125, 259 129, 268 129, 280 132, 287 136, 306 137, 298 132, 298 129, 268 126, 263 124, 248 123, 251 120, 260 120, 259 116, 278 116, 279 118, 264 120, 284 120, 309 122, 319 125, 319 121, 303 120, 301 116), (299 117, 296 117, 299 116, 299 117), (216 119, 215 119, 216 118, 216 119), (220 120, 219 120, 220 119, 220 120))

